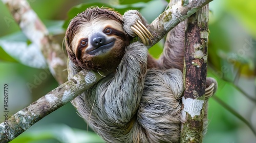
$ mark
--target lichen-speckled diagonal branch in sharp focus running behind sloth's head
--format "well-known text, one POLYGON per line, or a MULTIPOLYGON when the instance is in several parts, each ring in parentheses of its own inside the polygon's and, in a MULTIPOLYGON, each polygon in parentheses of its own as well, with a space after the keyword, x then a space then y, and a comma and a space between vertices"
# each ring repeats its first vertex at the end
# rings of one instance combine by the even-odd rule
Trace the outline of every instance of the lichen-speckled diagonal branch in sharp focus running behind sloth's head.
MULTIPOLYGON (((162 13, 151 23, 151 25, 148 26, 148 30, 150 30, 150 32, 155 37, 153 39, 152 45, 161 40, 164 35, 167 34, 169 30, 178 25, 179 22, 183 21, 185 18, 189 17, 211 1, 212 0, 205 0, 200 2, 189 1, 189 3, 179 1, 173 7, 162 13)), ((7 3, 9 1, 3 0, 3 2, 7 3)), ((18 0, 18 2, 24 1, 18 0)), ((104 73, 104 75, 107 74, 108 73, 104 73)), ((11 116, 8 120, 1 123, 0 141, 11 141, 19 134, 27 130, 29 127, 31 127, 33 124, 38 122, 41 118, 55 111, 59 107, 67 104, 79 94, 81 94, 84 90, 88 89, 102 78, 102 76, 94 71, 81 70, 75 77, 73 77, 66 83, 50 91, 46 96, 40 98, 23 110, 20 110, 19 112, 11 116)))

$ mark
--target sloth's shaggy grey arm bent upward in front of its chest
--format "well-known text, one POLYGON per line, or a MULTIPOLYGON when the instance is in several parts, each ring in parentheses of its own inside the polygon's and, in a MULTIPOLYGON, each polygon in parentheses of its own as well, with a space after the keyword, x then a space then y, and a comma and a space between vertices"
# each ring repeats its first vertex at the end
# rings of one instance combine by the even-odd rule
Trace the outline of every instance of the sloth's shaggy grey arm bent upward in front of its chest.
POLYGON ((144 88, 147 63, 146 46, 134 42, 125 54, 104 94, 104 108, 109 120, 126 124, 137 112, 144 88))

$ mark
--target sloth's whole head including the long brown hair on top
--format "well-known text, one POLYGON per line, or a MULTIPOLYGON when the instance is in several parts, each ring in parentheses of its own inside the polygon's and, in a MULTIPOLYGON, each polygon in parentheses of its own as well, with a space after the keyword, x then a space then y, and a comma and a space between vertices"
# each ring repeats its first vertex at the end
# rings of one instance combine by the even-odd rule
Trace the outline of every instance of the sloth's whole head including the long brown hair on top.
POLYGON ((122 15, 111 9, 88 8, 70 21, 66 31, 70 62, 84 69, 116 68, 129 41, 122 15))

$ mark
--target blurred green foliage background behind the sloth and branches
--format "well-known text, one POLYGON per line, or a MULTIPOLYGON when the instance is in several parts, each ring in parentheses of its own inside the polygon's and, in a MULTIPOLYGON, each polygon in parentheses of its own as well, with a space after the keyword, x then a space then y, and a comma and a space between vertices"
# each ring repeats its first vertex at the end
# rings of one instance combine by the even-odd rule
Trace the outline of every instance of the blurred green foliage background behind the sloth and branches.
MULTIPOLYGON (((135 0, 29 0, 28 2, 59 43, 62 42, 69 19, 89 6, 113 7, 121 14, 127 9, 139 9, 148 22, 151 22, 164 11, 168 3, 164 0, 140 0, 139 2, 135 0)), ((251 130, 256 129, 255 6, 254 0, 214 0, 209 5, 208 75, 218 80, 219 89, 217 98, 209 101, 209 126, 204 142, 256 141, 255 134, 251 130)), ((0 85, 9 84, 11 115, 44 96, 58 84, 48 74, 48 69, 30 67, 20 58, 15 57, 15 52, 19 52, 22 44, 29 45, 30 42, 20 32, 2 2, 0 2, 0 11, 0 85), (3 42, 6 40, 9 43, 11 41, 20 44, 6 43, 6 45, 3 42), (4 51, 6 47, 12 47, 15 51, 4 51), (35 87, 31 88, 28 86, 29 83, 34 84, 35 87)), ((158 57, 162 47, 163 41, 160 41, 152 47, 151 54, 158 57)), ((27 57, 29 56, 33 60, 33 55, 27 57)), ((39 62, 37 63, 39 66, 39 62)), ((2 91, 3 89, 0 88, 1 93, 2 91)), ((2 94, 0 98, 2 106, 2 94)), ((0 112, 3 113, 2 107, 0 112)), ((4 121, 3 117, 0 116, 0 122, 4 121)), ((76 114, 75 108, 68 104, 43 118, 11 142, 79 141, 103 142, 76 114)))

